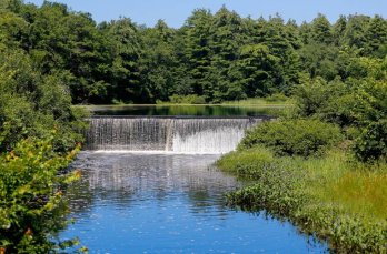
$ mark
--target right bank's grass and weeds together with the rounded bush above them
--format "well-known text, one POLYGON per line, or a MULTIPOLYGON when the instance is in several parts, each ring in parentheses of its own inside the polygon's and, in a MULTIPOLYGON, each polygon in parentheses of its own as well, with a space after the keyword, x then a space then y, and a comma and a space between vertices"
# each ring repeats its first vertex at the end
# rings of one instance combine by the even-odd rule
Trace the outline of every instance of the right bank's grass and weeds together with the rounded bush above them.
POLYGON ((386 253, 387 163, 359 162, 343 140, 336 125, 319 120, 258 126, 218 161, 252 182, 230 193, 229 204, 288 219, 333 252, 386 253))

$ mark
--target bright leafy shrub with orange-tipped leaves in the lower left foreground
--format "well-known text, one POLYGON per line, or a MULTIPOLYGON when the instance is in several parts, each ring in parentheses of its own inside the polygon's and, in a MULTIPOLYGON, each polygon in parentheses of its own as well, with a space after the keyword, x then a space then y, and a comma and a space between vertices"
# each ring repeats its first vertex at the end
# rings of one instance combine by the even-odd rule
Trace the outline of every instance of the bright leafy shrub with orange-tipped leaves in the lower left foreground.
POLYGON ((53 140, 23 140, 0 156, 0 248, 7 253, 59 248, 49 235, 66 225, 63 191, 80 172, 62 172, 78 149, 58 154, 53 140))

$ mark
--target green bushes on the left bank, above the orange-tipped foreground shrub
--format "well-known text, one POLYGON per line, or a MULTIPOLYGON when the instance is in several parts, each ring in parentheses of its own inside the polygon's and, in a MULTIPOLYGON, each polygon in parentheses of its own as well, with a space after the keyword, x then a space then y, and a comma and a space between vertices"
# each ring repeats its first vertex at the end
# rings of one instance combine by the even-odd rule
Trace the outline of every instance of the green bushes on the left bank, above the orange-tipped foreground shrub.
POLYGON ((57 126, 63 134, 58 135, 58 151, 80 142, 82 113, 71 108, 66 80, 37 72, 21 50, 0 49, 0 151, 28 136, 48 136, 57 126))

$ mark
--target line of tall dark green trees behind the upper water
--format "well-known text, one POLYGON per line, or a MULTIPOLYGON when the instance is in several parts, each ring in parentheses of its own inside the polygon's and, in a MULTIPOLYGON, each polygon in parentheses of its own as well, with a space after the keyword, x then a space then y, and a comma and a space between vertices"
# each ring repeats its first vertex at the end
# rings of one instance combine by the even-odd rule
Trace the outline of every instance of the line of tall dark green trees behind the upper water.
POLYGON ((155 103, 196 95, 217 103, 289 95, 317 77, 346 82, 361 74, 356 59, 384 59, 380 16, 324 14, 297 24, 279 16, 242 18, 222 7, 195 10, 179 28, 129 18, 96 23, 89 13, 46 1, 3 1, 2 51, 28 58, 33 71, 63 84, 73 103, 155 103), (6 50, 7 49, 7 50, 6 50))

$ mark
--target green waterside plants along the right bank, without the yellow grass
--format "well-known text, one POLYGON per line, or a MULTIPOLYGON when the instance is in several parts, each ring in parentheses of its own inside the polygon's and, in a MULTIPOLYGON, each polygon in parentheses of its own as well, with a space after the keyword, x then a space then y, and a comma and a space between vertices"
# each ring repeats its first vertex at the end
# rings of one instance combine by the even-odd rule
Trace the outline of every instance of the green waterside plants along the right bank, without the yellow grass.
MULTIPOLYGON (((346 163, 345 160, 343 153, 321 159, 275 158, 261 148, 231 152, 217 165, 252 183, 229 193, 229 205, 249 212, 267 211, 274 217, 287 220, 300 232, 326 241, 334 253, 387 253, 386 220, 353 213, 339 200, 327 201, 318 195, 324 189, 318 190, 319 185, 335 176, 318 173, 322 169, 310 167, 317 163, 322 166, 328 161, 331 162, 327 167, 335 167, 346 163)), ((335 172, 341 174, 338 179, 344 177, 348 166, 338 166, 340 169, 335 172)), ((379 165, 379 173, 386 175, 386 164, 379 165)))

